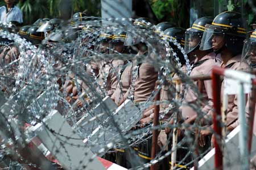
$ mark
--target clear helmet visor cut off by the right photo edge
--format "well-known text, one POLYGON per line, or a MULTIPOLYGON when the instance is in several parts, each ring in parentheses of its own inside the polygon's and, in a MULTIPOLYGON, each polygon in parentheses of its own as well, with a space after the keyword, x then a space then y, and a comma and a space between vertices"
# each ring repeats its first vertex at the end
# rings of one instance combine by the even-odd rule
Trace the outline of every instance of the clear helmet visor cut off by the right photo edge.
POLYGON ((242 61, 248 64, 256 64, 254 61, 256 57, 256 42, 245 40, 243 43, 242 61))

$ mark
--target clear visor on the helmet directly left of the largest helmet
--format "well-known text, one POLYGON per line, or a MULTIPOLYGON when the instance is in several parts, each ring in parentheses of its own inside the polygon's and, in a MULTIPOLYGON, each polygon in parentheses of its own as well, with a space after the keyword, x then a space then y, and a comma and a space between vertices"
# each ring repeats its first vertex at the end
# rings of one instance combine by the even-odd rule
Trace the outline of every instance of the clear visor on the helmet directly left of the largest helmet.
POLYGON ((185 34, 185 46, 184 51, 186 54, 192 52, 201 43, 201 35, 199 32, 187 31, 185 34))

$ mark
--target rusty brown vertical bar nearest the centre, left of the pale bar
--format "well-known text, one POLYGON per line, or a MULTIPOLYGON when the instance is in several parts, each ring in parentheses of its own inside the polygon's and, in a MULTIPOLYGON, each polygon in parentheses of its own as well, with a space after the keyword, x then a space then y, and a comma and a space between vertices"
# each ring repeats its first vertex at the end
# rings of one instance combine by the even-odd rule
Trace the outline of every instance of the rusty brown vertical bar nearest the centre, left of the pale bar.
MULTIPOLYGON (((156 87, 158 85, 156 84, 156 87)), ((154 106, 154 121, 153 121, 153 125, 154 127, 159 125, 159 110, 160 110, 160 106, 156 103, 157 101, 160 101, 160 92, 158 92, 155 96, 155 106, 154 106)), ((155 129, 153 130, 153 136, 152 136, 152 149, 151 149, 151 159, 154 159, 156 156, 156 153, 158 152, 158 130, 155 129)), ((156 170, 158 169, 158 165, 154 164, 151 165, 150 170, 156 170)))

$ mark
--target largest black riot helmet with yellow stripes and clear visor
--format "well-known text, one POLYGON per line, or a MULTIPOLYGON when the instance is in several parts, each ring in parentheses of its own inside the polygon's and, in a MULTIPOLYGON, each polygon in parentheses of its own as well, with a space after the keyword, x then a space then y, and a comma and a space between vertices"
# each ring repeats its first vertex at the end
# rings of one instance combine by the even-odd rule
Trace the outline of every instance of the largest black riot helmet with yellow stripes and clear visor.
POLYGON ((242 15, 234 11, 226 11, 218 14, 212 24, 205 25, 203 39, 200 45, 200 50, 208 50, 213 48, 213 51, 218 54, 224 49, 232 52, 236 56, 242 53, 243 40, 245 39, 246 32, 242 20, 242 15), (216 39, 224 39, 221 43, 215 43, 216 39))

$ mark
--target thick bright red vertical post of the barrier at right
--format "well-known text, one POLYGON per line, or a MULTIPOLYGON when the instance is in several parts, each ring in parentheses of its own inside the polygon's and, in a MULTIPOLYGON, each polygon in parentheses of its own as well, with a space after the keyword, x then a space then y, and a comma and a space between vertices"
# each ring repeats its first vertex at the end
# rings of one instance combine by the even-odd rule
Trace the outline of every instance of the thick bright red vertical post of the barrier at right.
MULTIPOLYGON (((215 155, 214 155, 214 167, 215 169, 222 170, 223 169, 223 154, 221 149, 221 81, 220 75, 217 73, 220 71, 220 68, 213 68, 212 71, 212 86, 213 86, 213 106, 214 106, 214 114, 213 114, 213 129, 214 133, 214 147, 215 147, 215 155), (220 142, 218 142, 220 141, 220 142)), ((222 73, 224 71, 222 70, 222 73)))

